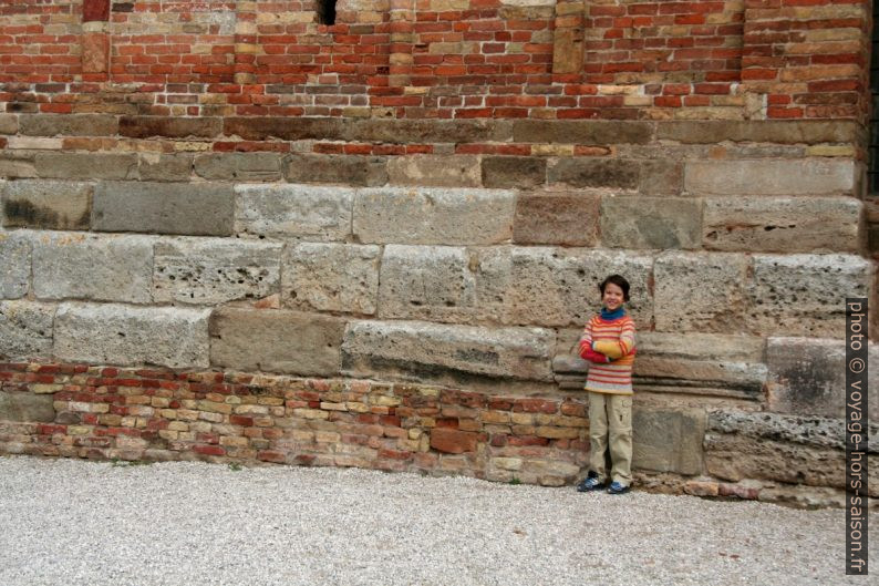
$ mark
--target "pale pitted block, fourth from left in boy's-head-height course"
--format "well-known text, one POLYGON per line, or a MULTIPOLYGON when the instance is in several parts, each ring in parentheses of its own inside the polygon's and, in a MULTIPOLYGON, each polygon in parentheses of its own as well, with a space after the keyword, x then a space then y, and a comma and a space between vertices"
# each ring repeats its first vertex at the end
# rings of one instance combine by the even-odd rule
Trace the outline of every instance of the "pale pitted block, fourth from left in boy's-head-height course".
POLYGON ((303 310, 373 315, 381 248, 300 243, 283 255, 285 305, 303 310))

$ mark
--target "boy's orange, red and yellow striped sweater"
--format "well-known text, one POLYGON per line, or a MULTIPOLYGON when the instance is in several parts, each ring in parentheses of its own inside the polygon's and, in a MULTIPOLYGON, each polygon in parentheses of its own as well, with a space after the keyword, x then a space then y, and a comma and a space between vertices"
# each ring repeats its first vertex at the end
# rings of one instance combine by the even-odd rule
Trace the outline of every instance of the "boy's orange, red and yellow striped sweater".
MULTIPOLYGON (((634 364, 634 321, 629 316, 606 320, 594 316, 583 328, 580 354, 587 350, 607 356, 610 362, 592 362, 586 379, 586 390, 610 394, 632 394, 634 364), (592 343, 594 342, 594 345, 592 343)), ((583 358, 587 358, 583 356, 583 358)))

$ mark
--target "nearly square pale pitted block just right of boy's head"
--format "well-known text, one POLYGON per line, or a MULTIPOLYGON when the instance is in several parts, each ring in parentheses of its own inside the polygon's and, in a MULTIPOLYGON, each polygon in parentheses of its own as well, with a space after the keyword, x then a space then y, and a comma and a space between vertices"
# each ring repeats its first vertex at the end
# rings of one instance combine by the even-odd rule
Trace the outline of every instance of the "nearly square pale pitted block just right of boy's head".
POLYGON ((743 331, 747 269, 745 255, 660 255, 653 268, 656 331, 743 331))

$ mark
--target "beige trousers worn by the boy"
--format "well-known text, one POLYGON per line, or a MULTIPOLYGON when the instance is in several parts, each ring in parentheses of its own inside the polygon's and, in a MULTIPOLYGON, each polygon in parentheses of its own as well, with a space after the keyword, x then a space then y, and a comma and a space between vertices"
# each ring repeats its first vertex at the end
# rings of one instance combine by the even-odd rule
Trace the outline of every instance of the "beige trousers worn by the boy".
POLYGON ((632 484, 632 395, 589 392, 589 469, 602 482, 632 484))

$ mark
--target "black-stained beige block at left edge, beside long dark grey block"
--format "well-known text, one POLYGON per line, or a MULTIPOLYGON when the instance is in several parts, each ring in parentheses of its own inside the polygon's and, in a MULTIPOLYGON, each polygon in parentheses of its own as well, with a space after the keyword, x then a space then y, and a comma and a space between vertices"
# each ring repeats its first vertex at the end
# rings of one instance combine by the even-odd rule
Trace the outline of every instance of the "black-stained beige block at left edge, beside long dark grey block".
POLYGON ((2 188, 3 226, 85 229, 92 222, 90 183, 13 181, 2 188))

